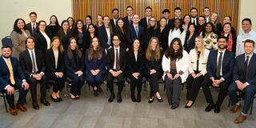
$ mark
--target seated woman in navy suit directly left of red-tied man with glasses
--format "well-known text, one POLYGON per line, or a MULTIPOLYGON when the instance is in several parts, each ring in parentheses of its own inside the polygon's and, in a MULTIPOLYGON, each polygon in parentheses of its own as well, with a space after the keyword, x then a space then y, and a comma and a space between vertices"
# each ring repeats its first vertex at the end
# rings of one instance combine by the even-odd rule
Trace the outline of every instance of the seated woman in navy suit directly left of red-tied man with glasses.
POLYGON ((97 37, 90 41, 89 49, 86 50, 86 80, 94 88, 94 96, 102 93, 102 82, 106 74, 106 54, 102 49, 97 37))

